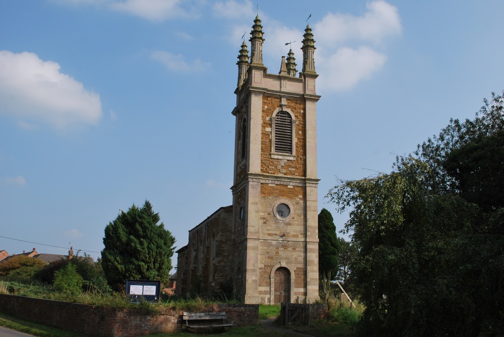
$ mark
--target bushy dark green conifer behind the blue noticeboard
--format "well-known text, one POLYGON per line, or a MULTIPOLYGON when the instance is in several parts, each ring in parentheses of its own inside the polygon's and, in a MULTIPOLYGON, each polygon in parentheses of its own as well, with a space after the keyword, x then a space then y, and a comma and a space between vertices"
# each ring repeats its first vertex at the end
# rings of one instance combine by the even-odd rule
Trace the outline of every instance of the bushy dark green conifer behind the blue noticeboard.
POLYGON ((127 279, 168 283, 175 239, 159 221, 146 200, 105 227, 101 265, 111 287, 118 290, 127 279))

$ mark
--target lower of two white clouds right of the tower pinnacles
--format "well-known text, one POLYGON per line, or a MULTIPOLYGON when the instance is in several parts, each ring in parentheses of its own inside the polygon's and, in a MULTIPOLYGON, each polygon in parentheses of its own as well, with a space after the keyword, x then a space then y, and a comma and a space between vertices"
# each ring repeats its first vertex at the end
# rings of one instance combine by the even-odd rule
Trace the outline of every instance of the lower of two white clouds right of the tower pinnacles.
POLYGON ((379 71, 387 61, 387 55, 369 47, 339 48, 327 59, 321 59, 324 76, 319 86, 330 91, 347 90, 379 71))

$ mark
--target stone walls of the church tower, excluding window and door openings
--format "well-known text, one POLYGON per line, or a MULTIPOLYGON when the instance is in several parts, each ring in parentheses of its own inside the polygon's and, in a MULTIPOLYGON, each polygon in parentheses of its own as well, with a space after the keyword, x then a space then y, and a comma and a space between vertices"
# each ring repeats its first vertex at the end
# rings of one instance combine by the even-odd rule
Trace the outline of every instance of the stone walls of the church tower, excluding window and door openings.
MULTIPOLYGON (((258 20, 250 39, 253 51, 262 50, 264 41, 262 31, 258 33, 258 20), (254 34, 261 39, 254 39, 254 34)), ((305 40, 311 45, 303 53, 312 60, 314 41, 310 34, 311 30, 305 34, 305 40)), ((243 55, 242 52, 242 58, 243 55)), ((292 76, 295 74, 292 50, 289 55, 290 64, 284 64, 282 58, 281 75, 269 74, 262 62, 252 57, 246 76, 242 76, 245 80, 235 91, 234 256, 235 268, 241 266, 244 271, 244 280, 237 283, 236 290, 245 303, 274 303, 275 270, 279 267, 290 273, 291 302, 313 302, 319 298, 318 75, 311 64, 307 74, 292 76), (287 66, 289 72, 285 71, 287 66), (278 121, 274 120, 278 112, 287 112, 292 121, 289 153, 277 152, 275 148, 278 121), (240 143, 243 121, 247 123, 245 156, 240 143), (288 206, 289 217, 276 214, 279 204, 288 206)))

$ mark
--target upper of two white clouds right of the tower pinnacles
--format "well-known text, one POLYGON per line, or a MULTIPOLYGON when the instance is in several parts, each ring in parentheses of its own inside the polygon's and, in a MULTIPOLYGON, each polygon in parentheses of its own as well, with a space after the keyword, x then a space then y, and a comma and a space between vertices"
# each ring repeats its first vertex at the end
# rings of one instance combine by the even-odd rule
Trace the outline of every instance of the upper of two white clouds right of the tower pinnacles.
POLYGON ((396 7, 385 1, 366 5, 367 12, 360 17, 328 13, 314 24, 317 41, 330 46, 349 40, 379 43, 384 38, 401 33, 401 19, 396 7))

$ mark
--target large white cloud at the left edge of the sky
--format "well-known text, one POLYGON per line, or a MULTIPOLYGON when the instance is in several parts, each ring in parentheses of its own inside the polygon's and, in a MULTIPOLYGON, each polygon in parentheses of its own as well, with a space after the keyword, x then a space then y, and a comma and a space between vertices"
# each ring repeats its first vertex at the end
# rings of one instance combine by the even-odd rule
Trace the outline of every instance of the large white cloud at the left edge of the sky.
POLYGON ((3 113, 18 120, 43 121, 58 129, 96 124, 102 115, 100 96, 59 69, 58 63, 43 61, 34 53, 0 50, 3 113))

